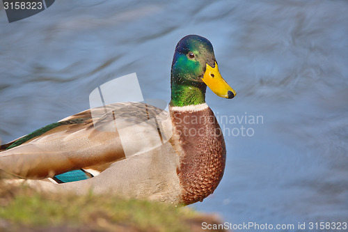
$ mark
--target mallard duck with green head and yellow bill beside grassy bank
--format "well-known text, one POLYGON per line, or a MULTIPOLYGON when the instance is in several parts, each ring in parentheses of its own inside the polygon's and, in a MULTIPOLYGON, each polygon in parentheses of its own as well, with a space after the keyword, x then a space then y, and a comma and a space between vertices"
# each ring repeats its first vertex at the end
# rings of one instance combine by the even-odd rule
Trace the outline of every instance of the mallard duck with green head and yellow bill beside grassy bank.
POLYGON ((169 112, 142 102, 83 111, 2 145, 0 170, 54 192, 176 205, 203 201, 219 185, 226 163, 221 128, 205 103, 207 86, 222 98, 236 95, 221 77, 211 42, 185 36, 175 47, 169 112), (135 132, 127 134, 132 125, 135 132))

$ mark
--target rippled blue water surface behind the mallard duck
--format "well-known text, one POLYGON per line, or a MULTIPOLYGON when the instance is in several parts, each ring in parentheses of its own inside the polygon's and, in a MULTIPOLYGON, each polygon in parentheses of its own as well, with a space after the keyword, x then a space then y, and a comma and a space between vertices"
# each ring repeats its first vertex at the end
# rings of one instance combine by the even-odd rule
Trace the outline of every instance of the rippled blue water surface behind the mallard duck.
POLYGON ((233 224, 348 222, 347 12, 338 0, 61 0, 9 24, 1 7, 0 137, 88 109, 94 88, 132 72, 144 98, 168 102, 175 45, 194 33, 237 97, 207 91, 228 160, 192 207, 233 224))

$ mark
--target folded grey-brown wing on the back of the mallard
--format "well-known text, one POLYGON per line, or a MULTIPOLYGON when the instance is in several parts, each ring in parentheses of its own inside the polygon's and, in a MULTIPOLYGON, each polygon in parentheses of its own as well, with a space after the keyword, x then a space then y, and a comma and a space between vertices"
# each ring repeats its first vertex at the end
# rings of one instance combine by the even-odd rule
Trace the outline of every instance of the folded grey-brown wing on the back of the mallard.
POLYGON ((104 171, 113 162, 139 152, 134 150, 136 139, 143 137, 153 144, 148 131, 160 131, 168 124, 159 115, 168 118, 168 112, 139 102, 83 111, 1 146, 6 150, 0 152, 0 169, 22 178, 54 177, 79 169, 104 171), (130 125, 136 133, 126 134, 127 141, 122 140, 119 132, 131 131, 130 125))

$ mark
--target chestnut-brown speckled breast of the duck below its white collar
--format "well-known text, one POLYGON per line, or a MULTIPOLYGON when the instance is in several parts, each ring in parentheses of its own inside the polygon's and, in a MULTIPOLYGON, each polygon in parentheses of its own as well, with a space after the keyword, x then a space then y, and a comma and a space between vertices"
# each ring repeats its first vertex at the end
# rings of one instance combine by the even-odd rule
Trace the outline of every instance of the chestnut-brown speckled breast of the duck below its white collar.
POLYGON ((226 145, 213 111, 171 111, 179 139, 180 165, 177 176, 182 185, 182 203, 203 201, 219 185, 226 164, 226 145))

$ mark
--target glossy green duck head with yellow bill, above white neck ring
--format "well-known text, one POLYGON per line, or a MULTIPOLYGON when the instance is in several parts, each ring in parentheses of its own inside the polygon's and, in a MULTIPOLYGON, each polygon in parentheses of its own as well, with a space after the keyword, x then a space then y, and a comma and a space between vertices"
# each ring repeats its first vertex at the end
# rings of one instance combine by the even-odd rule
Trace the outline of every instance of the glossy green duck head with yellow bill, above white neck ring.
POLYGON ((207 86, 223 98, 235 96, 235 91, 220 75, 212 43, 202 36, 185 36, 175 47, 171 105, 182 107, 204 103, 207 86))

